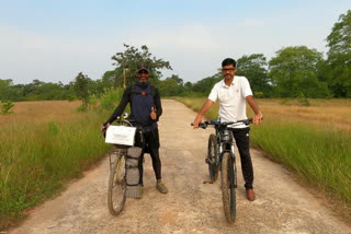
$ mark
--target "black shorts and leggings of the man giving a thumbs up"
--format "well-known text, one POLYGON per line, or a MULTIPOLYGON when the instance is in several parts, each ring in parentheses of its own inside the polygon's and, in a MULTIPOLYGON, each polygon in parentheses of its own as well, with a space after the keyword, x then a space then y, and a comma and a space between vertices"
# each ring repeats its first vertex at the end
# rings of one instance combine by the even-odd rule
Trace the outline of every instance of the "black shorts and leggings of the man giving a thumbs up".
POLYGON ((138 168, 139 168, 139 184, 143 183, 143 161, 144 161, 144 154, 149 153, 152 159, 152 167, 155 172, 156 179, 161 179, 161 160, 159 155, 159 148, 160 148, 160 141, 158 136, 158 129, 155 129, 152 131, 144 132, 144 140, 145 144, 143 148, 141 155, 139 157, 138 162, 138 168))

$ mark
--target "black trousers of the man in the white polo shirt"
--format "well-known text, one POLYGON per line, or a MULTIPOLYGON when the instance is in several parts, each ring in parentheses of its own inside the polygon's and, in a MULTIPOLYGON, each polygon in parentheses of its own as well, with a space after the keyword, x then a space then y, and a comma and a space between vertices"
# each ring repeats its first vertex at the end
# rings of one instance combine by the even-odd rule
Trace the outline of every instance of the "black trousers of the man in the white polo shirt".
POLYGON ((233 136, 239 150, 245 188, 253 188, 253 167, 250 155, 250 128, 233 129, 233 136))

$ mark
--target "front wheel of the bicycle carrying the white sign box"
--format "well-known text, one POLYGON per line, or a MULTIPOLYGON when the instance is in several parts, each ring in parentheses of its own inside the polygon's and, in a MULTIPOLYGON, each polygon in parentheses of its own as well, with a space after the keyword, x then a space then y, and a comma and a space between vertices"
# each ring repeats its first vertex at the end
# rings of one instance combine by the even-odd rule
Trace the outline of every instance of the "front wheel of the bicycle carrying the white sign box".
POLYGON ((109 178, 107 206, 112 215, 118 215, 124 207, 126 191, 125 156, 117 154, 109 178))

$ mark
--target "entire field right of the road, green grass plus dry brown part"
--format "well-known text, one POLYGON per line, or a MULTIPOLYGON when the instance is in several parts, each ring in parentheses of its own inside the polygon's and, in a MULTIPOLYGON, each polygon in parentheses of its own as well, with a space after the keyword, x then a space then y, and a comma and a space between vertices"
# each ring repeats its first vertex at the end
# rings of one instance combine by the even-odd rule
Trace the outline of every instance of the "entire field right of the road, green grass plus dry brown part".
MULTIPOLYGON (((199 110, 206 98, 177 97, 199 110)), ((301 180, 326 195, 351 220, 351 100, 256 100, 263 125, 251 126, 251 144, 284 164, 301 180)), ((217 118, 218 104, 206 117, 217 118)), ((248 107, 248 117, 253 114, 248 107)))

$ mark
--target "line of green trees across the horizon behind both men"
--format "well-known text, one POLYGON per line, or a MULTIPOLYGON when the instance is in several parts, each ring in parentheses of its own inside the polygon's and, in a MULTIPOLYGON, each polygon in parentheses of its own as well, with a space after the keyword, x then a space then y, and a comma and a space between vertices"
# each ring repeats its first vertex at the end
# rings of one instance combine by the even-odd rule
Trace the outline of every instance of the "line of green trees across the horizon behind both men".
MULTIPOLYGON (((262 54, 245 55, 237 59, 237 75, 245 75, 257 97, 351 97, 351 11, 341 14, 326 38, 328 52, 324 55, 307 46, 284 47, 269 61, 262 54)), ((222 79, 220 69, 195 83, 183 82, 172 74, 161 80, 160 70, 172 67, 169 61, 152 57, 146 45, 136 48, 124 45, 123 52, 112 56, 114 69, 101 79, 92 80, 79 72, 69 84, 33 80, 29 84, 13 84, 0 80, 0 101, 75 100, 89 102, 107 89, 127 86, 135 80, 136 66, 147 61, 151 69, 150 83, 161 96, 208 95, 222 79)))

